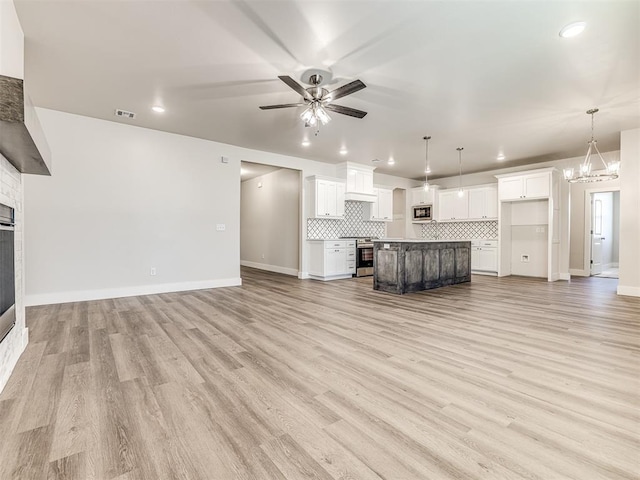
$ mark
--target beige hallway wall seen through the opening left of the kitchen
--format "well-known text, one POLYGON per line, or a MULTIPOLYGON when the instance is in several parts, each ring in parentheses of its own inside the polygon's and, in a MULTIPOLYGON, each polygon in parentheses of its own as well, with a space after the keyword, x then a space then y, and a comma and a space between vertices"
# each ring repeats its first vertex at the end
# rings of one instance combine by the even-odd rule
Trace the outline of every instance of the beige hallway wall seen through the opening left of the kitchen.
POLYGON ((283 168, 242 182, 242 265, 298 275, 300 171, 283 168))

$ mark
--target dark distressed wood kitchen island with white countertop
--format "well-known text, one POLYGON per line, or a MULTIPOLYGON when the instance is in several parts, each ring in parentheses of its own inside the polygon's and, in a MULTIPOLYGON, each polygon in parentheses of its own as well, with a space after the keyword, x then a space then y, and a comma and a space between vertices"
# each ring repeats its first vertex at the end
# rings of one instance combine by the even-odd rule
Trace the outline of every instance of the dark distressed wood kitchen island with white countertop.
POLYGON ((469 241, 374 241, 374 290, 403 294, 470 281, 469 241))

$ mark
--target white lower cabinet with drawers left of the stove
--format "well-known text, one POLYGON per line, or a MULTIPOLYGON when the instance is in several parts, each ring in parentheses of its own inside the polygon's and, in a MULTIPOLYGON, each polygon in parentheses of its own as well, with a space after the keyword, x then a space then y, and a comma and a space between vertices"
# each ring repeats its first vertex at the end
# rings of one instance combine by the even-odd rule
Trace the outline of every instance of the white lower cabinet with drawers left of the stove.
POLYGON ((309 277, 337 280, 355 273, 355 240, 309 240, 309 277))

